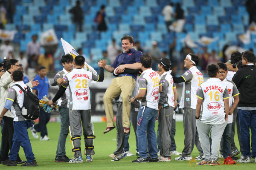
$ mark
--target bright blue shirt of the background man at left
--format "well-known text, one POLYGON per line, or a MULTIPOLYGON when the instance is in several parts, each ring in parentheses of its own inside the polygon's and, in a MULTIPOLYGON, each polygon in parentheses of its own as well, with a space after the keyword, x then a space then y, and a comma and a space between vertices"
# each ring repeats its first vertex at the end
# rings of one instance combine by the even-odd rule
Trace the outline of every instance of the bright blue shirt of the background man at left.
POLYGON ((38 92, 38 99, 41 100, 45 95, 48 96, 48 88, 50 88, 48 78, 45 76, 44 79, 42 79, 39 75, 37 75, 34 79, 39 81, 39 85, 35 86, 33 89, 35 89, 38 92))

